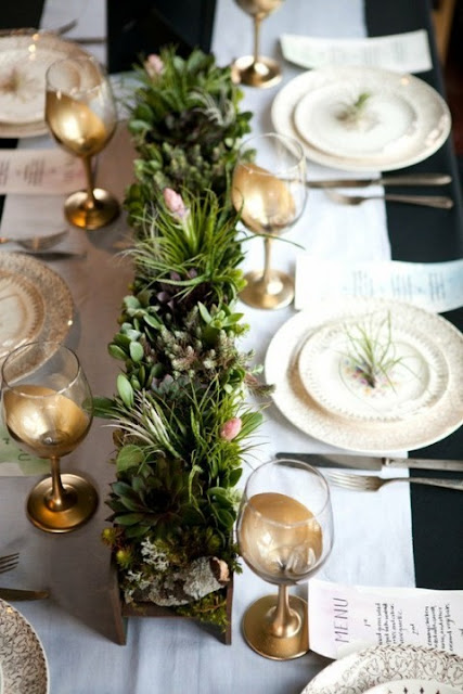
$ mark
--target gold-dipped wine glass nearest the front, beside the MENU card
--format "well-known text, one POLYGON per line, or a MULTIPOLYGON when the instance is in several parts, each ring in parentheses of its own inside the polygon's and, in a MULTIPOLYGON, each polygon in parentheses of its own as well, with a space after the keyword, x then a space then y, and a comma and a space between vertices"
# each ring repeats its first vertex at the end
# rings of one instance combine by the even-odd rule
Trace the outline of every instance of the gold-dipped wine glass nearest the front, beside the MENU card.
POLYGON ((307 603, 288 595, 329 556, 333 516, 325 478, 294 460, 274 460, 249 476, 237 519, 240 552, 263 580, 279 587, 247 608, 244 638, 260 655, 297 658, 309 650, 307 603))

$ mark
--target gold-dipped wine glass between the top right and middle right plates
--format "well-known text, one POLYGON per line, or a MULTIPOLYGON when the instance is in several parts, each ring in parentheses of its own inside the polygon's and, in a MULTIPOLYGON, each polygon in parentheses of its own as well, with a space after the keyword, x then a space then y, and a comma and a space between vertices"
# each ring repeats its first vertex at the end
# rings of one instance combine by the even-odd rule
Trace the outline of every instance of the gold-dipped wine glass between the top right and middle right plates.
POLYGON ((270 264, 273 239, 299 219, 306 204, 306 157, 299 142, 274 132, 246 140, 237 154, 231 197, 244 226, 263 235, 265 244, 263 271, 246 274, 240 298, 255 308, 287 306, 294 298, 293 279, 270 264))

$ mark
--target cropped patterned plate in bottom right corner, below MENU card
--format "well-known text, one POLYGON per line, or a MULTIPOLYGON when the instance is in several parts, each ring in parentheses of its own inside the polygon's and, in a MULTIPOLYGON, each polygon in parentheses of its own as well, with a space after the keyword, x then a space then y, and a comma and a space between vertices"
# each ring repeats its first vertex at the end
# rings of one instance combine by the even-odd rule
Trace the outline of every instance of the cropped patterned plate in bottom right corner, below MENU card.
MULTIPOLYGON (((451 687, 451 694, 453 690, 462 692, 463 659, 424 646, 373 646, 335 660, 319 672, 301 694, 366 694, 378 684, 414 679, 441 682, 451 687)), ((386 692, 387 689, 381 694, 386 692)), ((396 689, 393 693, 398 694, 396 689)), ((436 692, 426 689, 425 694, 436 692)))

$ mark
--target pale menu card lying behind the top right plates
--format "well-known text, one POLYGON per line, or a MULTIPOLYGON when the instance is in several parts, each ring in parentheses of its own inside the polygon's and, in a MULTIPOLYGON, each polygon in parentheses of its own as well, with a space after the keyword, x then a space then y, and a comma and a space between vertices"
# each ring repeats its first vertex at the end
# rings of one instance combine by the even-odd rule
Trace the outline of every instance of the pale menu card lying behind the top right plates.
POLYGON ((301 67, 363 65, 394 72, 424 73, 433 67, 424 29, 365 39, 325 39, 283 34, 284 57, 301 67))

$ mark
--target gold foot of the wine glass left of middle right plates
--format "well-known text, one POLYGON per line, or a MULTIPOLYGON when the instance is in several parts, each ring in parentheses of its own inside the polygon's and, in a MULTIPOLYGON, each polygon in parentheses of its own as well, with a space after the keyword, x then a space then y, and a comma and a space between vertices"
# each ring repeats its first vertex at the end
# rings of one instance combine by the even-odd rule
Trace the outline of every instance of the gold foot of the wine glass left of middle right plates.
POLYGON ((242 301, 254 308, 276 309, 288 306, 294 298, 292 278, 279 270, 271 271, 270 282, 262 282, 262 272, 254 270, 245 275, 247 285, 240 292, 242 301))

